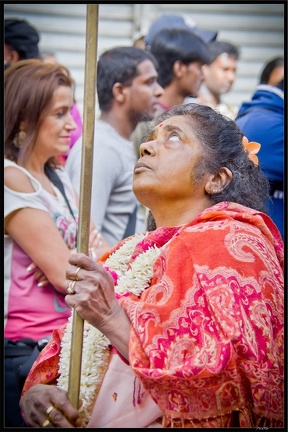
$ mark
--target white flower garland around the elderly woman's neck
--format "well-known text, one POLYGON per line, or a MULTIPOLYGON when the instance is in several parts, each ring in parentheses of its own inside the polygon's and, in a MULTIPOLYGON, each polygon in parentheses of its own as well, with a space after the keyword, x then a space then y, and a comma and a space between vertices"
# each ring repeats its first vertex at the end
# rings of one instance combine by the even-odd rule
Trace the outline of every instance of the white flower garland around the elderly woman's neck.
MULTIPOLYGON (((105 261, 105 267, 109 267, 111 271, 117 274, 118 280, 115 285, 115 292, 118 294, 130 292, 139 296, 149 286, 152 277, 152 265, 160 254, 160 249, 157 246, 150 247, 147 251, 138 255, 130 269, 127 270, 136 244, 143 240, 145 235, 136 234, 105 261)), ((73 310, 61 342, 60 376, 57 380, 57 386, 66 391, 69 382, 72 322, 73 310)), ((109 340, 99 330, 84 321, 79 395, 79 399, 83 402, 79 409, 82 427, 86 427, 89 422, 95 399, 108 366, 109 344, 109 340)))

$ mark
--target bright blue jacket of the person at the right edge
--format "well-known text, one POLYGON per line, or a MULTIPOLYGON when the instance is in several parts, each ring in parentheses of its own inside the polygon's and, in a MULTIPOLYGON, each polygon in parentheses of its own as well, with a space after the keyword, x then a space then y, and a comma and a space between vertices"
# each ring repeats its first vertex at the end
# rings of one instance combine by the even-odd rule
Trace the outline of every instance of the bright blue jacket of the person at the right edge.
POLYGON ((259 165, 270 181, 270 216, 284 238, 284 91, 260 84, 249 102, 243 102, 236 123, 249 141, 261 144, 259 165))

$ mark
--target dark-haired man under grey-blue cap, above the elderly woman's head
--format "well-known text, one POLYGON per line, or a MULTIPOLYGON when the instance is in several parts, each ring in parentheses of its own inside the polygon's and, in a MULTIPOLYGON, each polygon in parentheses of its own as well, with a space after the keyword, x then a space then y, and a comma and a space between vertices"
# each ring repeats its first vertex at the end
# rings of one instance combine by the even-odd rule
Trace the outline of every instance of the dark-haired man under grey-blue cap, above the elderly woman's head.
MULTIPOLYGON (((197 96, 204 79, 202 66, 210 62, 208 43, 217 32, 196 27, 186 15, 163 14, 156 19, 144 37, 146 50, 158 62, 158 82, 164 92, 158 101, 157 113, 184 102, 191 94, 197 96)), ((149 122, 141 121, 133 132, 136 155, 149 122)))

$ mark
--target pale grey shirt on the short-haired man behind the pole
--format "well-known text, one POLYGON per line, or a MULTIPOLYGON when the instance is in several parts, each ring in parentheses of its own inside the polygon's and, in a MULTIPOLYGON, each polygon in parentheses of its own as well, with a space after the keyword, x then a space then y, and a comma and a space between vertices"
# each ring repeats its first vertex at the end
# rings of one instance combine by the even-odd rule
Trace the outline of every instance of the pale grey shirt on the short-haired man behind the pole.
MULTIPOLYGON (((74 144, 65 169, 80 195, 82 137, 74 144)), ((108 123, 97 119, 94 128, 91 218, 113 246, 123 238, 129 216, 138 201, 132 191, 137 162, 132 141, 124 139, 108 123)), ((137 218, 136 232, 145 231, 137 218)))

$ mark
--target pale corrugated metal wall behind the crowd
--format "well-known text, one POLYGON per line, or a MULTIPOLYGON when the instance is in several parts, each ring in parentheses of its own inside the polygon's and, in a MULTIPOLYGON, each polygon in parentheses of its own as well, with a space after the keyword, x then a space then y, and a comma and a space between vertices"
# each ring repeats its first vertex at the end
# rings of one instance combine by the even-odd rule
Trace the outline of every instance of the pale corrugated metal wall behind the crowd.
MULTIPOLYGON (((165 12, 185 13, 199 27, 218 30, 218 39, 240 49, 237 79, 223 97, 240 104, 251 96, 264 63, 284 55, 286 2, 209 4, 99 4, 98 54, 116 45, 131 45, 137 34, 165 12)), ((76 99, 83 107, 86 4, 4 4, 4 17, 22 17, 40 32, 40 49, 52 51, 76 80, 76 99)))

